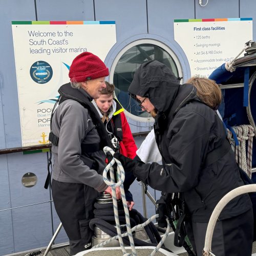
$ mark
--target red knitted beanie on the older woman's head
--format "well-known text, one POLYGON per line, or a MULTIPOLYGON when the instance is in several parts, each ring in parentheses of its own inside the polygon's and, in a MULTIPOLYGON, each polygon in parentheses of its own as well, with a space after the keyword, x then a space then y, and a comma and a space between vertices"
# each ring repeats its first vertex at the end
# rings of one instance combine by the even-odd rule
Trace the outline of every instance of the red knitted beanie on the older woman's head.
POLYGON ((69 69, 71 82, 84 82, 109 75, 109 69, 104 62, 90 52, 76 56, 69 69))

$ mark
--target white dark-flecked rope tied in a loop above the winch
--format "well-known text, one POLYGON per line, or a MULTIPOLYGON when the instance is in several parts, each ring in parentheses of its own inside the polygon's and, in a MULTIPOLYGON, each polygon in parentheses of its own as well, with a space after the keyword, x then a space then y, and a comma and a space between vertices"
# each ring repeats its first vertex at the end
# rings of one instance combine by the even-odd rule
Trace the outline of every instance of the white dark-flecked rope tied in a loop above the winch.
MULTIPOLYGON (((110 148, 108 146, 105 146, 103 148, 103 151, 104 151, 105 154, 110 153, 112 156, 115 153, 112 150, 112 148, 110 148)), ((137 256, 132 232, 137 230, 137 229, 140 229, 141 227, 146 226, 148 223, 150 223, 151 221, 158 218, 158 214, 152 216, 146 222, 144 222, 142 224, 139 224, 139 225, 137 225, 137 226, 135 226, 131 229, 129 209, 128 209, 127 202, 126 202, 126 199, 125 199, 125 193, 124 193, 124 188, 123 188, 124 179, 125 179, 125 173, 124 173, 124 169, 123 169, 123 166, 122 166, 121 162, 118 159, 113 158, 111 160, 111 162, 105 167, 105 169, 103 171, 103 180, 107 185, 111 186, 111 189, 112 189, 112 198, 113 198, 113 205, 114 205, 114 214, 115 214, 117 236, 115 236, 115 237, 113 237, 113 238, 111 238, 107 241, 104 241, 103 243, 100 243, 100 244, 94 246, 93 248, 101 247, 103 245, 106 245, 106 244, 110 243, 113 240, 118 239, 120 247, 121 247, 122 252, 123 252, 123 255, 124 256, 131 256, 130 253, 127 253, 125 251, 123 240, 122 240, 122 237, 125 237, 125 236, 128 235, 129 241, 130 241, 130 244, 131 244, 131 249, 132 249, 132 252, 133 252, 132 255, 137 256), (118 182, 117 183, 115 183, 114 168, 112 167, 115 162, 117 163, 117 174, 118 174, 118 182), (107 178, 107 174, 108 174, 109 170, 110 170, 111 181, 109 181, 108 178, 107 178), (118 207, 117 207, 117 198, 116 198, 116 187, 120 187, 120 191, 121 191, 121 198, 122 198, 123 208, 124 208, 124 212, 125 212, 125 220, 126 220, 126 228, 127 228, 127 232, 125 232, 125 233, 121 233, 121 230, 120 230, 120 223, 119 223, 119 217, 118 217, 118 207)), ((169 230, 170 230, 170 223, 169 223, 167 218, 166 218, 166 221, 167 221, 167 229, 164 233, 164 236, 161 239, 161 241, 159 242, 159 244, 157 245, 157 247, 154 249, 154 251, 150 254, 150 256, 153 256, 159 250, 159 248, 163 245, 164 240, 168 236, 168 233, 169 233, 169 230)))

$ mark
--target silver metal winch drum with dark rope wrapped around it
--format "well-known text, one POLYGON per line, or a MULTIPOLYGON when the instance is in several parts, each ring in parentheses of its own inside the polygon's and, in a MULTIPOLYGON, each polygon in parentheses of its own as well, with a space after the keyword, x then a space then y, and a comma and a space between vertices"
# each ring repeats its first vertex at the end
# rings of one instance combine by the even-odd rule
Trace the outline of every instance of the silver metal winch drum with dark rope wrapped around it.
MULTIPOLYGON (((110 194, 101 194, 100 197, 96 199, 97 203, 100 204, 109 204, 112 203, 112 197, 110 194)), ((116 226, 115 226, 116 227, 116 226)), ((122 232, 126 232, 126 225, 120 225, 120 229, 122 232)), ((134 232, 135 233, 135 232, 134 232)), ((133 235, 134 235, 133 233, 133 235)), ((94 227, 94 236, 92 237, 92 246, 95 246, 97 244, 100 244, 106 240, 111 239, 111 236, 109 234, 106 234, 104 231, 102 231, 98 227, 94 227)), ((126 245, 125 246, 130 246, 126 245)), ((118 240, 113 240, 109 244, 104 245, 103 247, 116 247, 119 246, 119 241, 118 240)))

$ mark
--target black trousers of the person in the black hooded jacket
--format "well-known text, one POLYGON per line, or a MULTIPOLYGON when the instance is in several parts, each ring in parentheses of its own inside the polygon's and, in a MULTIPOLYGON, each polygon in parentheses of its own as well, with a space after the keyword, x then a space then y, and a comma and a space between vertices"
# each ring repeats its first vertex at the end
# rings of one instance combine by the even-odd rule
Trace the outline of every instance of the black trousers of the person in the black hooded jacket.
MULTIPOLYGON (((198 256, 203 253, 208 223, 186 224, 188 238, 198 256)), ((218 256, 251 256, 253 242, 253 212, 217 221, 212 236, 211 250, 218 256)))

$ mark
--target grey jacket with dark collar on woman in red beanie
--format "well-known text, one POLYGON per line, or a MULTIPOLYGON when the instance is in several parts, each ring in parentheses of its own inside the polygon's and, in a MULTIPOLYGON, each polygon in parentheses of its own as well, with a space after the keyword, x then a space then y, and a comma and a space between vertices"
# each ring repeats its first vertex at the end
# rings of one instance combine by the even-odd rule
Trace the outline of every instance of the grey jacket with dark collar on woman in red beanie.
POLYGON ((102 177, 105 167, 102 148, 108 145, 104 141, 104 136, 108 135, 105 135, 105 127, 100 127, 102 122, 91 103, 92 98, 83 89, 73 89, 70 83, 64 84, 58 92, 60 103, 51 122, 51 131, 59 138, 58 146, 52 145, 52 178, 104 191, 108 185, 102 177), (99 133, 104 135, 99 136, 99 133))

